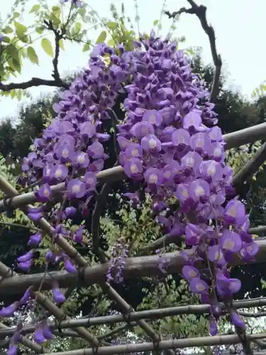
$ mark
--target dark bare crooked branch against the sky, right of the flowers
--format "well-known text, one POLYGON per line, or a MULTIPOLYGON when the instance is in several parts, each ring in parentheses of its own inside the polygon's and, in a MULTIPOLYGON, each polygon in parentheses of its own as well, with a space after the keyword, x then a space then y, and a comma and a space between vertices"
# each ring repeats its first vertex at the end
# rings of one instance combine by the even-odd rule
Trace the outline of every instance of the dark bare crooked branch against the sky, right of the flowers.
POLYGON ((187 1, 189 2, 190 6, 192 6, 190 9, 185 9, 184 7, 182 7, 182 9, 179 9, 179 11, 175 11, 173 13, 170 13, 170 11, 165 11, 165 14, 169 18, 174 18, 181 13, 191 13, 196 15, 197 18, 199 18, 201 27, 203 28, 206 35, 208 35, 209 37, 211 56, 215 66, 214 81, 211 86, 211 96, 210 96, 210 101, 215 102, 216 97, 218 95, 218 84, 221 75, 222 60, 221 60, 221 56, 217 54, 217 50, 216 50, 216 37, 215 37, 214 28, 210 26, 207 22, 206 6, 197 5, 193 0, 187 0, 187 1))

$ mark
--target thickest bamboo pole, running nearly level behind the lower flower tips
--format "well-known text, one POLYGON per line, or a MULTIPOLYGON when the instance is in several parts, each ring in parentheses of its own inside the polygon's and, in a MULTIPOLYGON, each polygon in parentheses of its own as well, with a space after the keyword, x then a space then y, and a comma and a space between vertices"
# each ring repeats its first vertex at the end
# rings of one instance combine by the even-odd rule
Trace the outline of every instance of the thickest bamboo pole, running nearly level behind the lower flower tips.
MULTIPOLYGON (((266 240, 257 240, 259 251, 257 252, 255 261, 250 263, 258 263, 266 260, 266 240)), ((187 255, 191 255, 191 250, 184 251, 187 255)), ((164 258, 167 260, 165 270, 167 273, 180 273, 184 266, 184 258, 179 252, 164 253, 164 258)), ((127 258, 125 262, 124 277, 125 280, 146 276, 162 275, 158 265, 160 256, 135 256, 127 258)), ((235 256, 232 266, 244 265, 245 263, 235 256)), ((109 262, 96 266, 87 266, 80 268, 77 273, 67 273, 67 271, 52 271, 49 274, 35 273, 30 275, 16 275, 11 278, 1 280, 0 296, 1 295, 18 295, 23 293, 28 287, 33 286, 34 290, 38 290, 40 281, 43 280, 43 290, 50 290, 52 280, 57 280, 60 288, 68 288, 71 286, 88 286, 94 283, 104 285, 106 275, 109 268, 109 262)), ((204 266, 199 263, 198 267, 204 266)))

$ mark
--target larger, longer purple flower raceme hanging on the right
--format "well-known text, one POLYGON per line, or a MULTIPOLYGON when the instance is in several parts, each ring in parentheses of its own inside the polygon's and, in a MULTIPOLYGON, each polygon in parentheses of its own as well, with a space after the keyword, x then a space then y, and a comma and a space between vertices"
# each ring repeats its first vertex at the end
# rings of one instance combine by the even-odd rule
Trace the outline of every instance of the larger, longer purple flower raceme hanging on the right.
MULTIPOLYGON (((240 280, 230 278, 227 264, 235 254, 253 259, 257 244, 248 234, 243 203, 228 193, 233 171, 226 166, 225 143, 204 84, 192 75, 176 43, 152 32, 140 48, 133 54, 133 79, 125 87, 119 161, 129 178, 145 181, 157 221, 169 233, 184 235, 194 249, 182 273, 192 292, 214 305, 217 295, 228 299, 240 290, 240 280), (179 207, 169 213, 173 196, 179 207), (211 278, 196 269, 199 258, 209 259, 211 278)), ((231 315, 232 322, 244 327, 237 317, 231 315)), ((211 334, 218 332, 217 319, 217 314, 211 316, 211 334)))

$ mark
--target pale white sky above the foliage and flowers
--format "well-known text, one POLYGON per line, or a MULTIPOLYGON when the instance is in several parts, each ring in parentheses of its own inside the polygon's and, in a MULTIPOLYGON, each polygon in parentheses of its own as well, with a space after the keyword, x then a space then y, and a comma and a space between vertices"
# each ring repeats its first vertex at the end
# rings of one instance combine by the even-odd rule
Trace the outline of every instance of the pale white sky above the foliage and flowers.
MULTIPOLYGON (((59 0, 47 0, 48 4, 55 5, 59 0)), ((126 14, 132 19, 135 18, 135 7, 133 0, 87 0, 87 3, 99 13, 101 17, 110 17, 110 4, 113 2, 118 9, 124 2, 126 14)), ((163 0, 138 0, 138 14, 140 16, 140 32, 150 32, 153 28, 153 21, 160 18, 163 0)), ((182 6, 188 7, 186 0, 166 0, 166 8, 170 11, 177 11, 182 6)), ((228 75, 228 86, 239 90, 245 97, 250 97, 253 89, 262 81, 266 80, 266 45, 265 45, 265 21, 266 1, 265 0, 197 0, 198 4, 207 7, 207 19, 214 26, 218 53, 223 58, 223 71, 228 75)), ((27 8, 31 9, 38 0, 27 1, 27 8)), ((4 19, 11 9, 11 1, 6 1, 1 6, 1 17, 4 19)), ((19 21, 30 26, 33 18, 27 11, 19 21)), ((166 35, 171 25, 167 18, 162 21, 162 35, 166 35)), ((92 43, 98 37, 100 29, 88 28, 88 36, 92 43)), ((177 23, 177 30, 174 35, 186 37, 183 48, 196 46, 202 48, 202 58, 207 64, 212 62, 209 38, 201 28, 199 19, 194 15, 182 14, 177 23)), ((50 38, 52 40, 52 38, 50 38)), ((40 41, 34 43, 34 48, 40 58, 40 65, 33 65, 24 60, 22 75, 13 80, 21 82, 30 80, 31 77, 51 78, 52 60, 43 53, 40 48, 40 41)), ((68 43, 65 51, 60 53, 59 70, 62 76, 68 72, 74 72, 87 67, 88 53, 82 53, 82 47, 68 43)), ((34 87, 31 89, 33 98, 40 95, 45 96, 52 91, 48 87, 34 87)), ((30 103, 30 100, 23 100, 22 104, 30 103)), ((15 99, 0 98, 0 120, 5 117, 13 117, 16 121, 21 102, 15 99)))

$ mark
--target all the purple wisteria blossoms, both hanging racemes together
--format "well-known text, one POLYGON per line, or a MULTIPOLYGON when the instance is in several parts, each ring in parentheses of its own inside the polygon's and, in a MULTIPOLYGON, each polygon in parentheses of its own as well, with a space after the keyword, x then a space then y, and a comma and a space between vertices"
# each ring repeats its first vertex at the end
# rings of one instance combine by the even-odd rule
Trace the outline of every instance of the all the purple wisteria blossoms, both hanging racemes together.
MULTIPOLYGON (((60 236, 82 243, 82 226, 74 233, 65 228, 65 221, 77 212, 67 202, 77 200, 87 214, 87 205, 96 189, 96 173, 109 158, 103 146, 109 134, 104 131, 102 120, 110 118, 118 94, 125 91, 126 117, 117 126, 119 163, 129 178, 145 182, 157 222, 177 239, 184 238, 192 249, 190 256, 183 253, 182 275, 192 292, 201 295, 202 302, 211 304, 210 332, 214 335, 221 315, 218 297, 231 300, 241 286, 240 280, 230 277, 228 263, 235 255, 250 261, 258 248, 248 234, 245 207, 233 195, 233 171, 225 163, 225 143, 216 126, 218 120, 214 104, 209 102, 209 92, 192 74, 184 53, 177 50, 177 43, 157 38, 154 31, 149 38, 143 36, 135 41, 131 52, 124 50, 123 45, 97 45, 89 70, 84 70, 62 93, 61 101, 53 107, 57 116, 42 138, 35 139, 35 151, 23 160, 22 180, 28 184, 42 182, 36 192, 39 202, 52 199, 51 185, 65 183, 60 208, 52 214, 53 243, 45 259, 47 263, 65 263, 70 273, 76 271, 70 258, 56 249, 54 242, 60 236), (169 202, 173 197, 178 202, 174 210, 169 202), (208 277, 197 268, 199 261, 206 262, 208 277)), ((138 200, 137 194, 127 196, 138 200)), ((43 205, 28 209, 32 221, 43 216, 43 205)), ((23 271, 32 266, 34 248, 42 239, 41 232, 30 237, 28 244, 33 250, 18 258, 23 271)), ((123 279, 127 256, 126 246, 119 242, 113 246, 109 278, 123 279)), ((159 268, 161 264, 162 261, 159 268)), ((163 269, 167 267, 164 265, 163 269)), ((53 298, 55 302, 64 301, 57 285, 53 298)), ((6 307, 0 315, 10 316, 20 305, 21 301, 6 307)), ((231 321, 245 327, 237 312, 231 312, 231 321)), ((36 342, 49 339, 45 324, 38 324, 36 342)), ((16 347, 15 343, 12 346, 16 347)))

